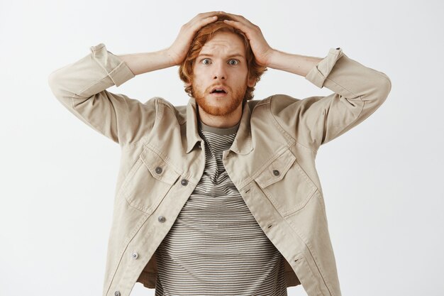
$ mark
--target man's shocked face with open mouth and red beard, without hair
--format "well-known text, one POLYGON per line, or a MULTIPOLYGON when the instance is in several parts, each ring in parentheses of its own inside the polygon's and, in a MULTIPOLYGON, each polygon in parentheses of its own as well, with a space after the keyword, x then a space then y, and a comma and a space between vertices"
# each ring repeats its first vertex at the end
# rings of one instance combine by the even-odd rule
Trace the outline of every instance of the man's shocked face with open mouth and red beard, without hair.
POLYGON ((248 80, 243 39, 231 32, 214 34, 193 67, 192 89, 199 112, 212 116, 241 113, 247 86, 254 83, 248 80))

